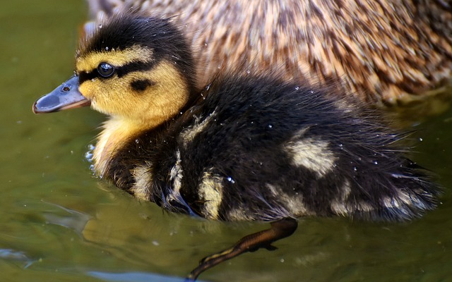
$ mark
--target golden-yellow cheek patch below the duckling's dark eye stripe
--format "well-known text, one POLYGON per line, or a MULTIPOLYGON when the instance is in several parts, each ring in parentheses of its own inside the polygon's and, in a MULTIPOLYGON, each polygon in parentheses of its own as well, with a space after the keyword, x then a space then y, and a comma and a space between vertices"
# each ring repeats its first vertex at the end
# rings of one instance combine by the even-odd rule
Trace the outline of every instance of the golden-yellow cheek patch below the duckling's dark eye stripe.
POLYGON ((167 61, 150 71, 136 71, 121 78, 86 80, 79 90, 96 111, 128 119, 143 130, 175 116, 189 97, 186 80, 167 61), (149 80, 154 85, 136 92, 131 87, 131 82, 136 80, 149 80))

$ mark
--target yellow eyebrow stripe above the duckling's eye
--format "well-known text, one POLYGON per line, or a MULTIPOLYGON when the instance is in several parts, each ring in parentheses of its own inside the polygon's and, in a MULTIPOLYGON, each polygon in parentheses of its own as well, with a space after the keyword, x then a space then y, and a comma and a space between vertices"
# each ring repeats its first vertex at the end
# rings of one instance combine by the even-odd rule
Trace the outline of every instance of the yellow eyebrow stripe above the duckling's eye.
POLYGON ((112 66, 124 66, 133 61, 150 62, 153 60, 153 50, 138 45, 124 50, 93 52, 76 59, 77 73, 93 71, 99 63, 106 62, 112 66))

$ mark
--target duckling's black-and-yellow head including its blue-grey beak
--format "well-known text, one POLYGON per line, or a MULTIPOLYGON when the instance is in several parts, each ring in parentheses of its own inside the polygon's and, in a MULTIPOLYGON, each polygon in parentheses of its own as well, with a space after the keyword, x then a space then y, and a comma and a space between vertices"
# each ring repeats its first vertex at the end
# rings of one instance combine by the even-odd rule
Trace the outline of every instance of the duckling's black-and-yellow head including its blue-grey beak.
POLYGON ((124 13, 81 41, 75 76, 37 100, 35 113, 90 104, 152 128, 189 101, 194 67, 186 39, 169 19, 124 13))

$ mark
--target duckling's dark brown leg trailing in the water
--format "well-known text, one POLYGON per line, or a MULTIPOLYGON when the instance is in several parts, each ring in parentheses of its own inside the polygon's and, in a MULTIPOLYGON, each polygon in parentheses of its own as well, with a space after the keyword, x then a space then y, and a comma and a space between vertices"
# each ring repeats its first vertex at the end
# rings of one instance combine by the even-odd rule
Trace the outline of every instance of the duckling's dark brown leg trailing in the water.
POLYGON ((275 250, 276 247, 272 246, 271 243, 292 235, 295 230, 297 230, 298 226, 295 219, 280 219, 279 221, 270 224, 270 229, 246 235, 229 249, 201 259, 198 267, 191 271, 186 281, 195 281, 203 271, 206 271, 207 269, 210 269, 210 267, 220 264, 221 262, 225 262, 227 259, 237 257, 244 252, 254 252, 261 247, 264 247, 267 250, 275 250))

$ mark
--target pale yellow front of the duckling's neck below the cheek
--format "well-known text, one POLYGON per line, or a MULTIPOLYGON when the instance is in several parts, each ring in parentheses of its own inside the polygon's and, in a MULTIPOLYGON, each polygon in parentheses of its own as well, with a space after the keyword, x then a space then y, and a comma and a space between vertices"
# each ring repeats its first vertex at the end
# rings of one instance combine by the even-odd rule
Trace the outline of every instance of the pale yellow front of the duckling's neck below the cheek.
POLYGON ((117 116, 110 117, 97 137, 97 145, 93 152, 95 173, 100 177, 104 176, 110 161, 124 144, 139 133, 156 126, 157 124, 143 125, 117 116))

